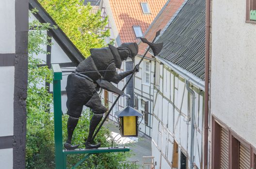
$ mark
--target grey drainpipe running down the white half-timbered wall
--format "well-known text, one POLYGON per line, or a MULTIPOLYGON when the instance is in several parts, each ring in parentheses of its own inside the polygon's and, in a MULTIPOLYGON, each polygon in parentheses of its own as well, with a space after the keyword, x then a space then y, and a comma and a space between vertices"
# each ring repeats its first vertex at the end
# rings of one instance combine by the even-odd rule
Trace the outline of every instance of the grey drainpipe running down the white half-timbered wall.
POLYGON ((190 144, 190 169, 194 168, 194 113, 195 113, 195 93, 190 88, 189 82, 186 80, 186 88, 192 95, 192 116, 191 116, 191 144, 190 144))

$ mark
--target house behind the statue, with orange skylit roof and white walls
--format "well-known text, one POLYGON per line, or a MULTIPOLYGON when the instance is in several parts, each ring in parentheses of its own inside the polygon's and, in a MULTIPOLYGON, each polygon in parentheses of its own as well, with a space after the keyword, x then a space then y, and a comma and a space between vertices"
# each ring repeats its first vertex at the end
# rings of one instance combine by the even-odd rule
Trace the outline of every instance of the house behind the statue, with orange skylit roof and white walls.
MULTIPOLYGON (((108 43, 114 41, 114 45, 116 47, 124 42, 139 42, 139 38, 143 36, 143 34, 152 23, 154 18, 157 16, 157 14, 160 12, 166 1, 167 0, 147 0, 146 2, 142 2, 140 0, 101 0, 99 9, 101 10, 102 17, 109 17, 109 24, 106 29, 110 29, 111 33, 111 36, 109 38, 106 38, 106 42, 108 43)), ((125 62, 123 62, 122 68, 118 70, 118 72, 132 70, 133 68, 134 63, 131 59, 127 59, 125 62)), ((152 70, 153 67, 150 66, 149 68, 152 70)), ((141 72, 139 72, 139 74, 140 73, 141 72)), ((119 89, 122 89, 126 84, 128 78, 129 76, 116 86, 119 89)), ((153 81, 153 78, 150 78, 150 81, 153 81)), ((131 79, 125 90, 125 93, 129 94, 131 96, 131 99, 127 100, 126 98, 121 97, 118 100, 117 105, 115 105, 112 112, 110 113, 109 119, 116 121, 114 112, 124 108, 127 104, 131 107, 136 107, 136 98, 134 97, 135 84, 135 81, 131 79)), ((147 86, 149 85, 150 83, 147 84, 147 86)), ((151 98, 153 98, 152 94, 153 93, 151 92, 151 98)), ((112 102, 114 102, 115 99, 118 97, 112 92, 106 91, 104 91, 101 96, 102 100, 104 100, 105 106, 108 107, 111 107, 112 102)), ((152 101, 153 99, 151 99, 151 102, 152 101)), ((141 125, 143 124, 144 120, 141 125)), ((140 131, 147 136, 151 135, 149 134, 151 128, 150 124, 152 123, 149 122, 147 127, 146 125, 140 126, 140 131)))

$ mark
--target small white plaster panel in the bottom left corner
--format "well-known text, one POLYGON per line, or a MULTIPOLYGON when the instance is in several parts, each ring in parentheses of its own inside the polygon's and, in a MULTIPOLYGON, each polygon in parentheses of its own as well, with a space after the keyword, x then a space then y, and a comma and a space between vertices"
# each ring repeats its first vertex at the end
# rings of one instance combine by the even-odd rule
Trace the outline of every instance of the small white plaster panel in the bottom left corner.
POLYGON ((13 149, 0 149, 0 168, 13 169, 13 149))

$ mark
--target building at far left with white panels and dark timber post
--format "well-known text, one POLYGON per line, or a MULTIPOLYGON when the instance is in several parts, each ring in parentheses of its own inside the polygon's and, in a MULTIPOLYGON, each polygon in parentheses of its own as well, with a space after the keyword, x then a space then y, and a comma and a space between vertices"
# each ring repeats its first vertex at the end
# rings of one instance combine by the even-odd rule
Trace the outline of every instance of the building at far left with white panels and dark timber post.
POLYGON ((0 2, 0 165, 24 169, 28 84, 28 0, 0 2))

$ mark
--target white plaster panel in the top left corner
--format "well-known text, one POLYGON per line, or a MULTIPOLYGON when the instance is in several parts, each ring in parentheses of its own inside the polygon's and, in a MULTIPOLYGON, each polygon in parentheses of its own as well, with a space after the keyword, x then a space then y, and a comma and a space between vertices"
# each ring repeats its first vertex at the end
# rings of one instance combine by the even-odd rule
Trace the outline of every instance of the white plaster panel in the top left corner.
POLYGON ((15 0, 1 0, 0 53, 15 53, 15 0))

